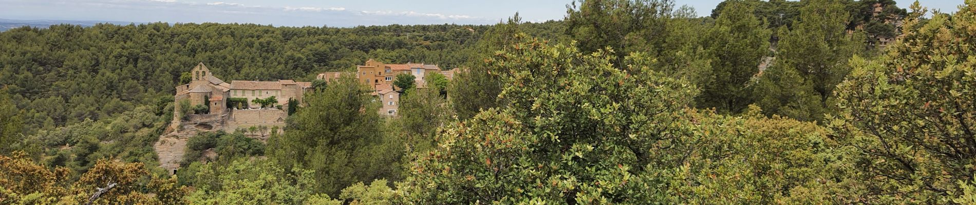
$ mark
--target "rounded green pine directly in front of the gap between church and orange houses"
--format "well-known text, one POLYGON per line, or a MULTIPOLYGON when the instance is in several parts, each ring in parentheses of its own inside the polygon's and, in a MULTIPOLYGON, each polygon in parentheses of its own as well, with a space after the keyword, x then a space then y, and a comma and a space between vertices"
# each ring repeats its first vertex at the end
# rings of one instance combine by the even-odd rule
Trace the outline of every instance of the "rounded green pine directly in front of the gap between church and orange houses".
POLYGON ((380 104, 368 89, 345 77, 305 96, 305 108, 291 117, 284 135, 268 139, 265 154, 314 171, 315 192, 330 195, 356 182, 395 177, 398 167, 391 164, 402 150, 385 137, 380 104))

